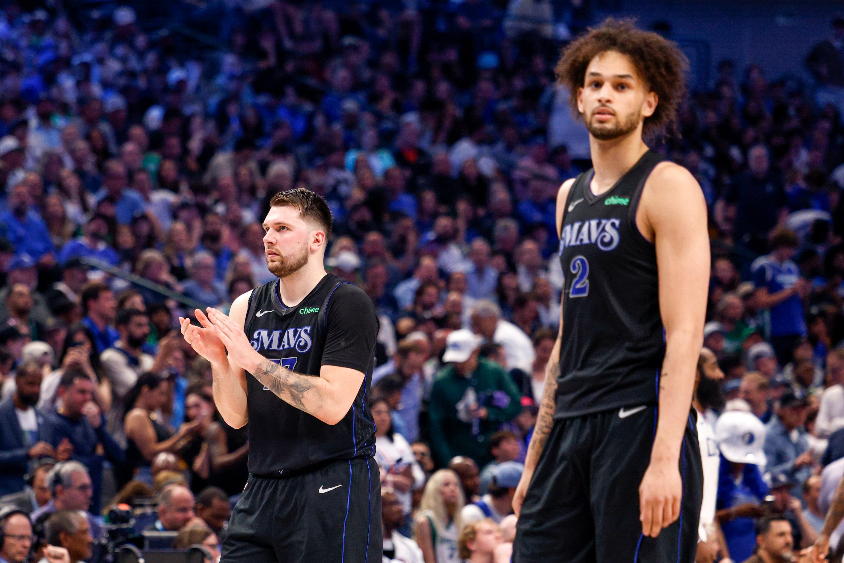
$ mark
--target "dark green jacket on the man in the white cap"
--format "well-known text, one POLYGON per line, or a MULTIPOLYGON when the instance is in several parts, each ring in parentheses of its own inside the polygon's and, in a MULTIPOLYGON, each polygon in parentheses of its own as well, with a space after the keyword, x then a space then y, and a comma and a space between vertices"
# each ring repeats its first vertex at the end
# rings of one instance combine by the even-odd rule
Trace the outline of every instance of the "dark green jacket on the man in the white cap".
POLYGON ((468 377, 458 374, 454 365, 447 365, 436 375, 430 390, 430 446, 434 460, 444 467, 452 457, 463 455, 484 467, 492 460, 490 436, 521 412, 521 393, 500 365, 480 359, 468 377), (457 418, 457 403, 469 387, 478 395, 479 407, 487 410, 477 436, 471 422, 457 418))

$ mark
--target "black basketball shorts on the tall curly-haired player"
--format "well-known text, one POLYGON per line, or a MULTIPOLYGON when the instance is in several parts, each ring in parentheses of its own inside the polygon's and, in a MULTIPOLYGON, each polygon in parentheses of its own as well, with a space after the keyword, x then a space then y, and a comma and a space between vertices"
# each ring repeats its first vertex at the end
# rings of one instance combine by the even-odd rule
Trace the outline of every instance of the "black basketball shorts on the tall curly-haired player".
POLYGON ((641 533, 639 485, 651 460, 657 407, 555 420, 522 505, 514 563, 694 563, 703 496, 692 409, 679 469, 680 517, 641 533))

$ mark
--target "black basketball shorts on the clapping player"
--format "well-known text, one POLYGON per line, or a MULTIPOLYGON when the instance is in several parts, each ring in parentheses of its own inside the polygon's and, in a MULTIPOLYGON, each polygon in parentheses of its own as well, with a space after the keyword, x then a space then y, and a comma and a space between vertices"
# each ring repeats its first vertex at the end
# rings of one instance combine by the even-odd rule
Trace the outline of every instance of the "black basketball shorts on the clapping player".
POLYGON ((381 563, 381 485, 373 458, 279 479, 250 475, 222 563, 381 563))

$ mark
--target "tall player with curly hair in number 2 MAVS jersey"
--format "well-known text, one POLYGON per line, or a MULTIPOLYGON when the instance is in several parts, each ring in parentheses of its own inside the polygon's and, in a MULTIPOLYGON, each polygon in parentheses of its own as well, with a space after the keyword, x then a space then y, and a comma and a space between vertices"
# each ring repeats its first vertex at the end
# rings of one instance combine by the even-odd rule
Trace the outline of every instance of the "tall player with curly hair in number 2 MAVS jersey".
POLYGON ((673 125, 684 66, 673 43, 614 20, 557 65, 594 169, 557 196, 565 295, 513 501, 517 563, 695 560, 706 203, 643 140, 673 125))

